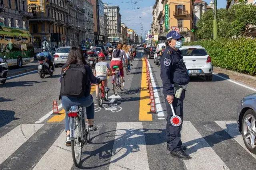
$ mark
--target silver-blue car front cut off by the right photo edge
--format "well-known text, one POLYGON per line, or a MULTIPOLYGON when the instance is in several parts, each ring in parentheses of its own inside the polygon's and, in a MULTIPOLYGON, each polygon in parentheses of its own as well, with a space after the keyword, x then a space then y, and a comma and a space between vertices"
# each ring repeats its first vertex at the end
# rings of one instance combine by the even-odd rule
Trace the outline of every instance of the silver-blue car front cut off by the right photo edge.
POLYGON ((237 112, 237 125, 246 148, 256 154, 256 93, 241 100, 237 112))

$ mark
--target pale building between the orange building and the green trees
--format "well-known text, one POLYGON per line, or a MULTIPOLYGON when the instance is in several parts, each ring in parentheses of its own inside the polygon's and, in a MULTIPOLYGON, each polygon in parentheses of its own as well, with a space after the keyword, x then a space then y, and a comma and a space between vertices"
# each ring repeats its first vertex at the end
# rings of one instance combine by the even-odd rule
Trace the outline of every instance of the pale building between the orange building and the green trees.
POLYGON ((208 4, 203 0, 194 1, 194 26, 196 27, 197 22, 200 20, 200 17, 207 10, 208 4))

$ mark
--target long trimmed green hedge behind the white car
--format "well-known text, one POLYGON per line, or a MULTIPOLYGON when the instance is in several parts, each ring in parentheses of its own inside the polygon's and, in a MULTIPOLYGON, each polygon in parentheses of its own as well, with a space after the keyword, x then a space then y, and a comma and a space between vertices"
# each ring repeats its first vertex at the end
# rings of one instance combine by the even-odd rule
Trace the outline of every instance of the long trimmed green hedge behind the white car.
POLYGON ((256 39, 238 38, 202 40, 184 45, 201 45, 212 58, 212 64, 228 70, 256 75, 256 39))

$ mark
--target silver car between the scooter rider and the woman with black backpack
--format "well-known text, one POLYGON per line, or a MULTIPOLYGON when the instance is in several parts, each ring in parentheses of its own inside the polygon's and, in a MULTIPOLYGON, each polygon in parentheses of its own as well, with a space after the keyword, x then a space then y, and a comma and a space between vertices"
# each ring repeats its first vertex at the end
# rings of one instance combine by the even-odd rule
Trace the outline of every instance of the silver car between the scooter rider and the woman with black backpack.
POLYGON ((71 47, 59 47, 54 54, 54 66, 58 67, 66 63, 71 47))

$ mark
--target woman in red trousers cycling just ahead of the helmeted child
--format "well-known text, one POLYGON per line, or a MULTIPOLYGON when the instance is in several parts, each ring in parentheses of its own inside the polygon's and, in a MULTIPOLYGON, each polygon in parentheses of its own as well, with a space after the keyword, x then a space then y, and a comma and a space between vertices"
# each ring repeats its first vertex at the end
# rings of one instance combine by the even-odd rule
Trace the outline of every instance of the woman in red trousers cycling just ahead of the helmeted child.
POLYGON ((113 66, 118 66, 120 70, 120 76, 121 81, 124 82, 124 68, 123 68, 123 57, 125 59, 125 63, 128 64, 128 58, 126 56, 126 53, 122 50, 123 44, 118 43, 116 49, 114 49, 112 54, 112 60, 110 62, 110 67, 112 69, 112 72, 115 72, 113 69, 113 66))

